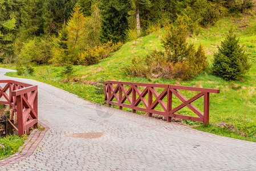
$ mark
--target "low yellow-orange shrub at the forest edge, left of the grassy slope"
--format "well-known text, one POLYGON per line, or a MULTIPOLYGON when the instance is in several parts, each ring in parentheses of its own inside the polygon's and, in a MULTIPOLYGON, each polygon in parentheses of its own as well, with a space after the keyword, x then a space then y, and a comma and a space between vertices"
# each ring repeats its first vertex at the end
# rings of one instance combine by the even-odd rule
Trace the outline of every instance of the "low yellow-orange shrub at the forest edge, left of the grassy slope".
POLYGON ((111 52, 119 50, 123 43, 113 43, 109 41, 99 46, 84 48, 84 52, 79 54, 79 64, 90 65, 98 63, 101 59, 107 58, 111 52))

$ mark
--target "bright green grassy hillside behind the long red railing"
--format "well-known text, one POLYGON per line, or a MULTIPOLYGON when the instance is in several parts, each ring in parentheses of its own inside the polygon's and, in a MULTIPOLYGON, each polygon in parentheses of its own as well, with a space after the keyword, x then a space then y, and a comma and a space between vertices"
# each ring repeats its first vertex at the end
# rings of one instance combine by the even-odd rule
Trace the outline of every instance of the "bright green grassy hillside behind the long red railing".
MULTIPOLYGON (((161 30, 164 31, 163 29, 161 30)), ((27 78, 39 80, 40 82, 51 84, 66 91, 75 93, 86 100, 94 101, 96 103, 104 103, 104 95, 97 94, 96 86, 90 85, 100 82, 101 78, 105 80, 121 80, 125 82, 140 82, 140 83, 160 83, 160 84, 175 84, 179 82, 182 86, 196 87, 199 83, 204 88, 220 89, 219 94, 210 94, 210 123, 229 123, 233 124, 235 133, 239 132, 245 134, 247 137, 239 138, 234 136, 234 132, 229 130, 216 128, 218 131, 213 131, 212 127, 198 127, 202 131, 216 133, 218 135, 235 137, 238 139, 245 139, 249 141, 256 141, 256 22, 250 16, 242 16, 240 18, 222 18, 214 26, 210 28, 201 28, 198 35, 192 35, 188 42, 194 43, 197 47, 200 43, 204 46, 208 61, 210 63, 209 70, 201 73, 196 78, 190 81, 170 80, 170 79, 151 79, 133 78, 125 74, 125 67, 129 67, 133 56, 140 56, 143 58, 152 50, 162 49, 160 38, 155 34, 133 40, 125 43, 120 50, 113 52, 110 58, 102 60, 100 63, 92 66, 75 66, 76 78, 84 83, 60 83, 62 78, 59 72, 63 67, 54 66, 35 66, 35 75, 27 76, 27 78), (248 25, 247 27, 241 27, 248 25), (217 51, 217 46, 220 45, 221 40, 224 40, 225 34, 233 26, 235 32, 240 39, 240 43, 244 46, 246 53, 249 54, 252 67, 246 75, 243 75, 243 82, 231 81, 227 82, 221 78, 217 78, 210 74, 212 66, 213 54, 217 51), (241 27, 241 28, 239 28, 241 27), (238 88, 234 88, 233 84, 238 84, 238 88), (222 133, 221 133, 222 132, 222 133)), ((161 35, 161 34, 160 34, 161 35)), ((14 72, 6 74, 8 76, 17 76, 14 72)), ((157 89, 161 91, 161 89, 157 89)), ((187 98, 192 97, 196 92, 181 91, 187 98)), ((164 99, 166 100, 166 99, 164 99)), ((173 108, 180 104, 177 98, 173 98, 173 108)), ((198 99, 193 104, 202 111, 202 99, 198 99)), ((142 106, 142 104, 140 104, 142 106)), ((160 109, 157 107, 157 109, 160 109)), ((127 109, 131 111, 131 109, 127 109)), ((143 113, 143 112, 141 112, 143 113)), ((184 108, 180 114, 194 116, 188 109, 184 108)), ((213 126, 215 129, 215 126, 213 126)))

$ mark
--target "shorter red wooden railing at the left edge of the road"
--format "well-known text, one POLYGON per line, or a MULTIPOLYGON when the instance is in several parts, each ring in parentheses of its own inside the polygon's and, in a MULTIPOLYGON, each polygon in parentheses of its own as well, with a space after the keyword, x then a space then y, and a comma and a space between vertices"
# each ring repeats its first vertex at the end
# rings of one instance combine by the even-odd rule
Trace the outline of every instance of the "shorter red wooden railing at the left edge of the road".
POLYGON ((0 86, 0 104, 10 105, 9 121, 14 121, 10 123, 17 129, 19 136, 30 127, 37 127, 38 87, 13 80, 0 80, 0 83, 6 83, 4 87, 0 86), (9 91, 9 95, 6 91, 9 91))

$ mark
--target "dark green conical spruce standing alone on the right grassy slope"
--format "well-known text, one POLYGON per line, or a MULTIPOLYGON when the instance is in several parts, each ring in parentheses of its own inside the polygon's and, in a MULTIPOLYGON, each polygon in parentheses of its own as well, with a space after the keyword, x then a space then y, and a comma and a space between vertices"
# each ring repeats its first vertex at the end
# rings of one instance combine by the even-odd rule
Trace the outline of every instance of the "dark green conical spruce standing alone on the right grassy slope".
POLYGON ((247 55, 239 45, 239 39, 233 29, 229 30, 226 38, 214 54, 213 74, 225 80, 238 80, 250 68, 247 55))

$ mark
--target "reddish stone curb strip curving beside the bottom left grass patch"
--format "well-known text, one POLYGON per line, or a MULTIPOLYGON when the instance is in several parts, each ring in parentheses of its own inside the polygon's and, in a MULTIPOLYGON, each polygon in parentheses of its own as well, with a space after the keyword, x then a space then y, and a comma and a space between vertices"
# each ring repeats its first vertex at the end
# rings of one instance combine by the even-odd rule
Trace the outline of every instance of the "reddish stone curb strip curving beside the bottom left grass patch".
POLYGON ((26 157, 31 156, 36 146, 38 146, 40 141, 43 139, 46 131, 48 131, 49 129, 43 123, 38 122, 38 124, 40 124, 41 127, 44 129, 43 130, 34 129, 34 131, 30 133, 25 143, 19 148, 17 153, 0 161, 0 170, 7 166, 15 164, 15 162, 21 161, 26 157))

